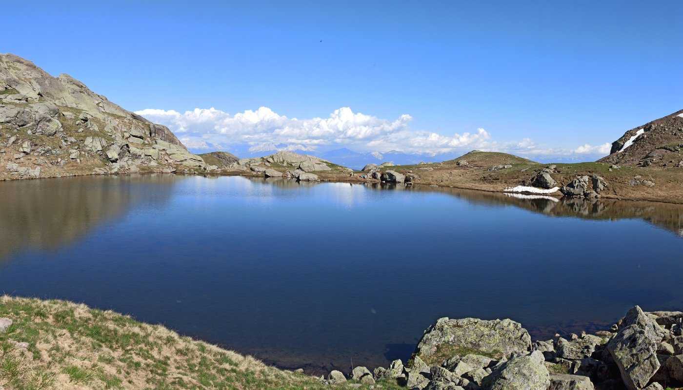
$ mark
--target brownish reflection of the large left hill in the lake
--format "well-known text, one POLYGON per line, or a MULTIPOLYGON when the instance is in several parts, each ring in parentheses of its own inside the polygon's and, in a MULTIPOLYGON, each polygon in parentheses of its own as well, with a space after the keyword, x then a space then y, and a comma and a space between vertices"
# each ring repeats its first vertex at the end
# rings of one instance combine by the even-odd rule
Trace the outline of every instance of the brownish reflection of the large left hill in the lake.
POLYGON ((0 260, 20 249, 68 245, 137 201, 165 201, 178 180, 159 174, 0 182, 0 260))

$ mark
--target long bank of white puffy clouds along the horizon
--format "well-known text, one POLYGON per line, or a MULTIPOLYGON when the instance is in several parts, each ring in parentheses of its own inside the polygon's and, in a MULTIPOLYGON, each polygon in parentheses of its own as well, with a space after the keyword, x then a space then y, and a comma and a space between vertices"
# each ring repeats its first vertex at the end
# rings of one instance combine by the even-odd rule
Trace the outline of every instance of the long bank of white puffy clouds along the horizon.
POLYGON ((195 152, 246 150, 257 155, 275 150, 313 153, 318 150, 348 148, 356 152, 407 154, 447 154, 479 149, 507 152, 520 156, 587 157, 609 154, 611 144, 579 145, 576 148, 544 148, 531 139, 495 141, 484 128, 475 132, 441 135, 413 130, 408 114, 395 120, 354 113, 350 107, 333 111, 329 117, 298 119, 275 113, 268 107, 230 115, 215 109, 180 113, 175 110, 143 109, 135 111, 152 122, 168 126, 195 152))

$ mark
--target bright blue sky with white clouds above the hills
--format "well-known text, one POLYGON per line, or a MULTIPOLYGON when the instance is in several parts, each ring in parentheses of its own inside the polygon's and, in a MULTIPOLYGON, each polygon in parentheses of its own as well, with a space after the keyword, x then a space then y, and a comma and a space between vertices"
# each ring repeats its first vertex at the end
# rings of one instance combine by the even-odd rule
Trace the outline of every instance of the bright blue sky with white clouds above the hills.
POLYGON ((197 151, 587 160, 683 108, 674 1, 109 3, 5 4, 0 51, 197 151))

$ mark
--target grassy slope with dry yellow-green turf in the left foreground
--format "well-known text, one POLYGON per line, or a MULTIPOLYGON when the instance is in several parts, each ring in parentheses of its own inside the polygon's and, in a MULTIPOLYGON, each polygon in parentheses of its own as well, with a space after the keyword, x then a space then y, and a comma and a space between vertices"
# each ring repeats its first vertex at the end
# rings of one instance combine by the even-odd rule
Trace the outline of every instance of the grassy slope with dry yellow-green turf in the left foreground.
MULTIPOLYGON (((66 301, 2 296, 0 317, 14 321, 0 333, 5 390, 346 388, 66 301), (15 342, 29 346, 16 348, 15 342)), ((382 388, 398 386, 382 382, 382 388)))

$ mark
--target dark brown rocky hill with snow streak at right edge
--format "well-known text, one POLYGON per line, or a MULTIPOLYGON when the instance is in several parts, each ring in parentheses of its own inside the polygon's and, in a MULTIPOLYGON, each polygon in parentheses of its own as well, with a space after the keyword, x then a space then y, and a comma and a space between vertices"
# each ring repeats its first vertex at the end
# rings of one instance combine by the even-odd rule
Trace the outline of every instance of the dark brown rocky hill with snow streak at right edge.
POLYGON ((602 163, 683 167, 683 110, 628 130, 602 163))

